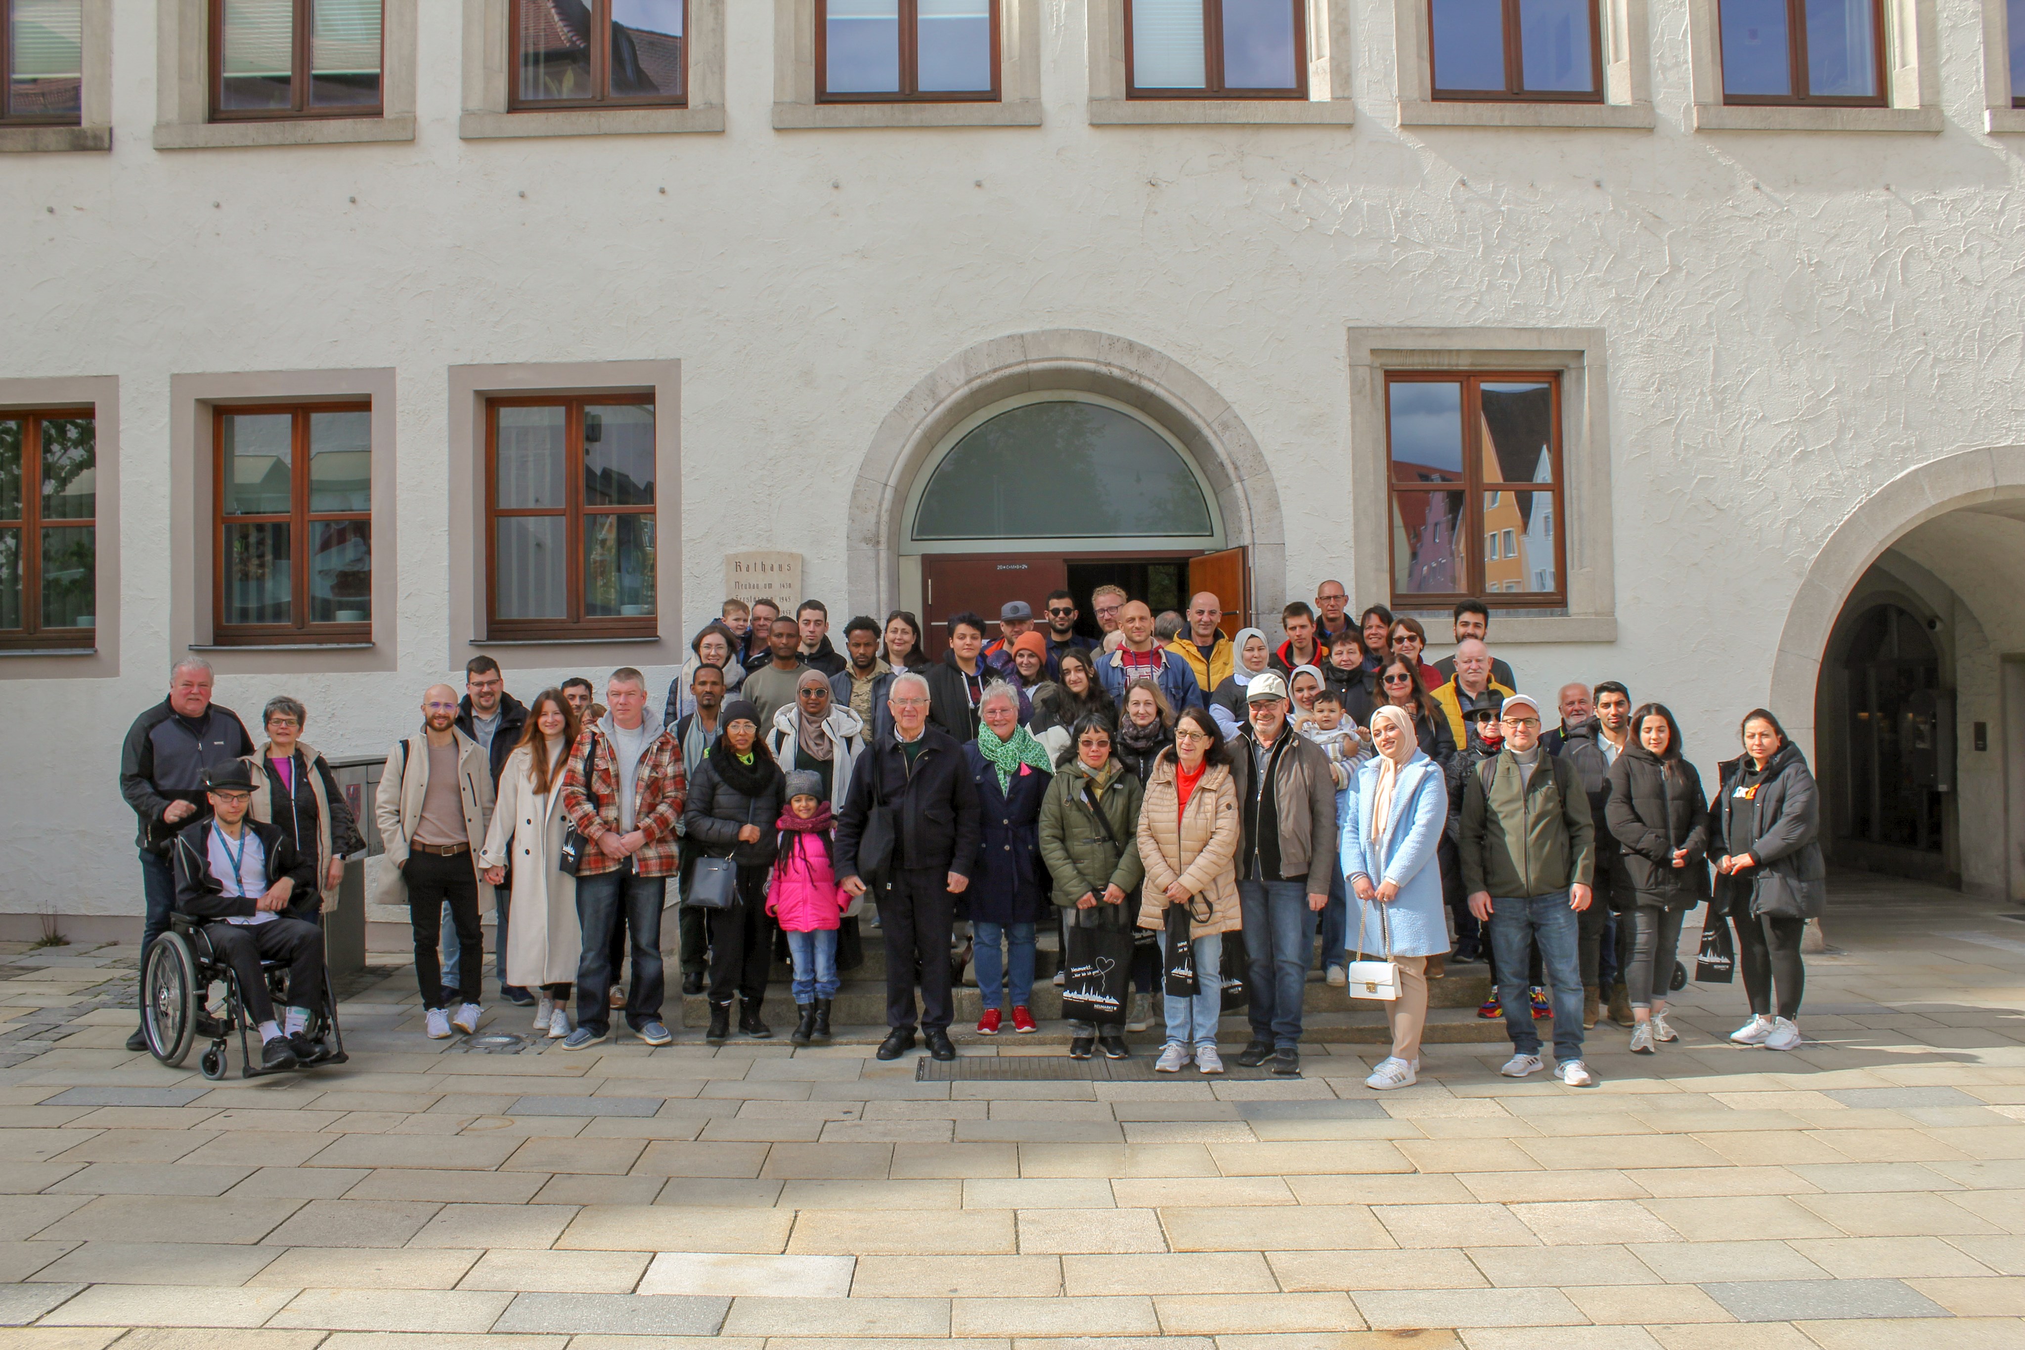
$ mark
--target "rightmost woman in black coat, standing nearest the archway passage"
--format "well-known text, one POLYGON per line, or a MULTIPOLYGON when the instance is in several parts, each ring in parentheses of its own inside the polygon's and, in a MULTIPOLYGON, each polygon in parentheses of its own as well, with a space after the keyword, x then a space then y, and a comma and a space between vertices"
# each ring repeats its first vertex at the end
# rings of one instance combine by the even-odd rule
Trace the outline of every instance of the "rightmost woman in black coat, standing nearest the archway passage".
POLYGON ((1764 708, 1744 714, 1744 759, 1713 808, 1715 870, 1733 878, 1729 919, 1752 1020, 1729 1034, 1768 1050, 1800 1046, 1806 921, 1829 909, 1820 858, 1820 797, 1806 757, 1764 708), (1748 899, 1746 899, 1748 897, 1748 899), (1774 1012, 1774 992, 1778 994, 1774 1012))

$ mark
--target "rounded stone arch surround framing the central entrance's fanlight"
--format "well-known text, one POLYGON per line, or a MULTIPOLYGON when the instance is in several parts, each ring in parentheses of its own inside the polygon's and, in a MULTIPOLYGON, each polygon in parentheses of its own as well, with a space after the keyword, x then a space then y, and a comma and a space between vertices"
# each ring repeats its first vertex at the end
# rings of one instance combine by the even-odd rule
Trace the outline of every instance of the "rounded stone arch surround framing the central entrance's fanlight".
POLYGON ((966 417, 1023 393, 1094 393, 1138 409, 1195 457, 1217 494, 1225 544, 1251 551, 1253 613, 1286 589, 1286 526, 1266 453, 1207 381, 1150 346, 1051 328, 988 338, 936 366, 879 423, 850 488, 846 587, 857 613, 899 601, 899 544, 915 474, 966 417))

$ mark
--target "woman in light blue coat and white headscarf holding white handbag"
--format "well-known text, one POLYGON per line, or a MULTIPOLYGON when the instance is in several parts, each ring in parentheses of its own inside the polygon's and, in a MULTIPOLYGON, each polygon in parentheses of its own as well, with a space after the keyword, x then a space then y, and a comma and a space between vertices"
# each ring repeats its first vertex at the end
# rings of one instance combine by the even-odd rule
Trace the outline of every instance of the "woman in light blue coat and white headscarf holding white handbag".
POLYGON ((1420 749, 1405 708, 1375 710, 1371 741, 1377 755, 1357 769, 1341 856, 1357 897, 1353 951, 1389 955, 1399 967, 1399 998, 1389 1014, 1393 1052, 1365 1079, 1365 1087, 1387 1089, 1420 1075, 1428 957, 1448 951, 1442 870, 1434 860, 1448 824, 1448 783, 1420 749))

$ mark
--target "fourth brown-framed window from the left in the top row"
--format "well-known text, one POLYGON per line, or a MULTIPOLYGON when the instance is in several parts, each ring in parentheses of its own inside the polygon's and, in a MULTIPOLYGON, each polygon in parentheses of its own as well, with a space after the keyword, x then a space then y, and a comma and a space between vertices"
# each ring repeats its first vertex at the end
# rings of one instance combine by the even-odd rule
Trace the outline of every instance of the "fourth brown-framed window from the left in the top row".
POLYGON ((816 0, 822 103, 998 97, 998 0, 816 0))

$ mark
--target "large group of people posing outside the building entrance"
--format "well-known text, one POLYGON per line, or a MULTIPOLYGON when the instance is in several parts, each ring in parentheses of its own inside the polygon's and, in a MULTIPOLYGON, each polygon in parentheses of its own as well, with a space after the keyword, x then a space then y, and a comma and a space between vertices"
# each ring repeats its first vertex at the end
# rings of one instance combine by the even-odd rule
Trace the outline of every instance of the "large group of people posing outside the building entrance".
MULTIPOLYGON (((1482 1014, 1503 1014, 1513 1040, 1503 1071, 1543 1069, 1535 1018, 1551 1016, 1555 1073, 1580 1087, 1594 1081, 1584 1030, 1606 1002, 1632 1050, 1675 1038, 1681 921, 1703 901, 1735 929, 1752 1020, 1733 1040, 1800 1044, 1800 933, 1825 889, 1814 785, 1776 716, 1744 719, 1711 806, 1673 714, 1632 708, 1618 682, 1563 688, 1547 731, 1490 654, 1484 605, 1456 605, 1454 656, 1428 664, 1418 619, 1373 605, 1353 621, 1347 603, 1322 583, 1312 607, 1286 605, 1274 648, 1258 627, 1225 636, 1217 595, 1154 615, 1100 587, 1102 636, 1085 636, 1075 595, 1055 591, 1041 621, 1004 605, 996 636, 954 615, 929 660, 907 611, 850 619, 838 652, 820 601, 792 615, 727 601, 660 710, 632 668, 612 672, 603 704, 587 678, 520 704, 478 656, 462 698, 423 692, 373 804, 389 860, 377 899, 409 909, 425 1030, 480 1024, 492 891, 500 990, 535 1010, 537 1032, 585 1048, 624 1010, 640 1040, 666 1044, 672 878, 682 990, 707 994, 711 1042, 731 1036, 733 1010, 741 1034, 772 1036, 778 947, 790 1038, 828 1038, 871 899, 881 1059, 917 1034, 932 1057, 956 1054, 962 927, 976 1030, 1035 1030, 1037 937, 1057 923, 1065 955, 1079 931, 1134 935, 1136 992, 1071 1020, 1075 1057, 1130 1054, 1124 1032, 1160 992, 1156 1071, 1223 1073, 1217 1026, 1243 1004, 1239 1063, 1298 1075, 1320 937, 1322 978, 1387 1004, 1391 1054, 1371 1087, 1415 1081, 1428 982, 1478 957, 1494 984, 1482 1014)), ((196 658, 136 721, 122 787, 148 941, 182 909, 235 963, 314 963, 316 913, 362 844, 302 743, 306 721, 275 698, 255 745, 211 702, 196 658)), ((269 1067, 312 1052, 296 1034, 308 994, 290 988, 290 1008, 261 996, 249 1012, 269 1067)))

